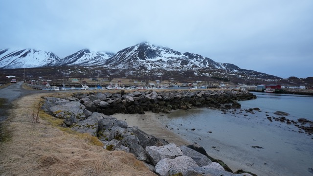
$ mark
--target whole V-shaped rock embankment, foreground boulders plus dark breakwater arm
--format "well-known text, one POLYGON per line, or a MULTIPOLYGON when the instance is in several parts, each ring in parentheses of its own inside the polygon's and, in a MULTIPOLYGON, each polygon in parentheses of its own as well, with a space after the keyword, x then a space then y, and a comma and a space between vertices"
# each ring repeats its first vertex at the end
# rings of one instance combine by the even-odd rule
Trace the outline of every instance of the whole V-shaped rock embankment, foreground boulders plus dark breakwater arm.
MULTIPOLYGON (((110 113, 135 113, 135 110, 141 110, 138 105, 143 104, 142 110, 167 112, 167 110, 175 109, 175 107, 184 109, 193 105, 197 107, 209 105, 222 107, 222 102, 230 103, 234 100, 253 98, 246 92, 229 91, 224 95, 222 94, 222 91, 182 91, 180 93, 177 91, 148 91, 128 94, 112 94, 109 92, 79 93, 75 94, 74 97, 44 97, 45 103, 42 109, 50 115, 63 119, 65 128, 98 137, 104 144, 104 149, 110 151, 120 150, 134 154, 138 160, 146 163, 151 171, 161 176, 175 174, 183 176, 251 176, 247 173, 234 174, 229 168, 222 167, 219 162, 212 162, 209 159, 211 157, 197 144, 189 146, 169 144, 164 139, 156 138, 136 127, 128 126, 125 121, 117 120, 112 116, 96 111, 104 112, 104 110, 108 110, 110 113), (157 104, 159 102, 162 102, 161 105, 157 104), (204 104, 201 105, 201 102, 204 104), (116 109, 114 106, 122 110, 116 109), (132 106, 133 108, 129 108, 132 106), (110 110, 110 107, 112 110, 110 110)), ((236 103, 233 103, 233 105, 238 107, 236 103)), ((138 112, 144 113, 144 111, 138 112)))

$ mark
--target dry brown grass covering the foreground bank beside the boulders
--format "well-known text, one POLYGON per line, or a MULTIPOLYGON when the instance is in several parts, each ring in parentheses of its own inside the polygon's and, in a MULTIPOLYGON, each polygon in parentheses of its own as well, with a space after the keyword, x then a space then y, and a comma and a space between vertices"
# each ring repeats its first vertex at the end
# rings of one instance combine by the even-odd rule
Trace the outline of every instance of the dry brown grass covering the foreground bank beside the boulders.
POLYGON ((40 123, 34 123, 32 106, 41 96, 14 102, 2 129, 1 176, 155 176, 133 154, 109 152, 88 134, 55 127, 59 119, 40 112, 40 123))

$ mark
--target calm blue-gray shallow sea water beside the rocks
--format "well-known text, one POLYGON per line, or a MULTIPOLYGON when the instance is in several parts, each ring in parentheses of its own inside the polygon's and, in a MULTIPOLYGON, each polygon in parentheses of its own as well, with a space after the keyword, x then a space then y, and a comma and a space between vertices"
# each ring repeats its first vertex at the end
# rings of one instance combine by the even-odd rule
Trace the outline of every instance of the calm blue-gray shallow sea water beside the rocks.
POLYGON ((208 108, 178 110, 163 119, 173 132, 207 153, 222 159, 234 171, 244 169, 259 176, 313 176, 313 136, 294 125, 273 121, 273 112, 289 113, 290 120, 313 120, 313 96, 255 93, 257 99, 241 101, 242 111, 208 108), (260 108, 254 113, 249 108, 260 108), (252 146, 257 146, 253 148, 252 146))

